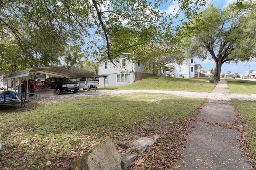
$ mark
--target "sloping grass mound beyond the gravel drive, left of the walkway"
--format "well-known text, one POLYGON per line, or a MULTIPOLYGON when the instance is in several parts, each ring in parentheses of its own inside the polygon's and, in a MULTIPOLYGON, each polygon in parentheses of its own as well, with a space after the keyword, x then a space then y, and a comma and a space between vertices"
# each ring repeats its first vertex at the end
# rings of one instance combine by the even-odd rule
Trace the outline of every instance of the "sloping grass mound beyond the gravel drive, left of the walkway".
POLYGON ((216 86, 209 78, 172 78, 164 76, 148 76, 138 82, 124 86, 107 86, 117 90, 178 90, 190 92, 211 92, 216 86))

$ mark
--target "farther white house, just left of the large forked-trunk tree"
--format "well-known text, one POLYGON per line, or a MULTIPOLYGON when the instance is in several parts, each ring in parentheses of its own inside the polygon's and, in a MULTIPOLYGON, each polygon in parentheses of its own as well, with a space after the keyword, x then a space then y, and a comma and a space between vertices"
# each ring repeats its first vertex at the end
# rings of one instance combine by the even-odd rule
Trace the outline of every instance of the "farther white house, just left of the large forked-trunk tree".
POLYGON ((195 64, 194 59, 186 60, 182 65, 169 63, 166 69, 162 70, 162 74, 175 78, 194 78, 198 72, 202 74, 201 64, 195 64))

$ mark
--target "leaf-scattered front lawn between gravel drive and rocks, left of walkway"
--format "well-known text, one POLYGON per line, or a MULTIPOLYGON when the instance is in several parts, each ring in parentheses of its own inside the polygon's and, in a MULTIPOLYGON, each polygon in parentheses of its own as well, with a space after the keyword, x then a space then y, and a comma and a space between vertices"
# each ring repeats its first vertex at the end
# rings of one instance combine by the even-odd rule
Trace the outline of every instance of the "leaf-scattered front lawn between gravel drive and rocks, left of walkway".
POLYGON ((40 105, 19 115, 17 108, 6 107, 0 111, 1 165, 45 169, 50 160, 64 169, 65 161, 70 162, 66 159, 105 139, 136 137, 146 125, 159 129, 164 124, 161 117, 183 120, 204 101, 167 94, 126 94, 40 105))

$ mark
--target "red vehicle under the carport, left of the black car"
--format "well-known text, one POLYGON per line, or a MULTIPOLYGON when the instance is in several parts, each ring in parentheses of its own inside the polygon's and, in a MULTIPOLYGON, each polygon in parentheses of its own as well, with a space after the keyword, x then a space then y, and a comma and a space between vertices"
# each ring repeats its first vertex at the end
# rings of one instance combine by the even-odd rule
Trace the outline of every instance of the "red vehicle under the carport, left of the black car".
POLYGON ((28 80, 28 85, 27 85, 27 80, 22 80, 21 84, 18 85, 18 92, 19 93, 24 93, 26 92, 26 88, 28 86, 28 91, 30 93, 34 93, 35 90, 47 90, 50 89, 46 81, 36 81, 36 79, 28 80))

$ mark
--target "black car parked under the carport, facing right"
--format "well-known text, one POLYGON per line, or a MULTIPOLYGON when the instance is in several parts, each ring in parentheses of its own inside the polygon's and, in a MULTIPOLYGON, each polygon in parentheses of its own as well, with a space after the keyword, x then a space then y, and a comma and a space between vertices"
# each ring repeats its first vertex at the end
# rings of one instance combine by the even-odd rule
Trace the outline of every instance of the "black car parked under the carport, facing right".
POLYGON ((77 93, 79 89, 79 84, 72 82, 66 77, 50 77, 45 80, 51 89, 56 89, 57 94, 62 94, 63 92, 73 92, 77 93))

